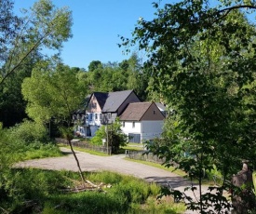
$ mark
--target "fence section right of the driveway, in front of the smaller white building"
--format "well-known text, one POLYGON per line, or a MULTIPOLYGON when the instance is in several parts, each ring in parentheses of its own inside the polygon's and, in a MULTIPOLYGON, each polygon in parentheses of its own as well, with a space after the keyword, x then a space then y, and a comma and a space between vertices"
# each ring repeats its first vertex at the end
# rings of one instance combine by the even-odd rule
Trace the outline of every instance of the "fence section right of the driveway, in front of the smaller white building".
POLYGON ((144 151, 128 151, 126 150, 126 157, 130 159, 135 159, 135 160, 143 160, 143 161, 149 161, 149 162, 154 162, 157 164, 162 164, 164 163, 165 159, 160 159, 156 155, 153 154, 145 154, 144 151))

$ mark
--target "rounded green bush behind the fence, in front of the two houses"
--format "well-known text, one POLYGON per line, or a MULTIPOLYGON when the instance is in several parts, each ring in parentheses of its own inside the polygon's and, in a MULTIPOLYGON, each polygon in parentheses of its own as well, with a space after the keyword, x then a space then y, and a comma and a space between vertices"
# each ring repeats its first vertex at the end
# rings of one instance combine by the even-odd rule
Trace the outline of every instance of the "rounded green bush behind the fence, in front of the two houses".
POLYGON ((118 118, 111 125, 101 126, 91 142, 102 145, 102 139, 105 139, 108 146, 111 146, 112 153, 118 152, 120 146, 125 146, 128 143, 128 137, 121 131, 121 123, 118 118))

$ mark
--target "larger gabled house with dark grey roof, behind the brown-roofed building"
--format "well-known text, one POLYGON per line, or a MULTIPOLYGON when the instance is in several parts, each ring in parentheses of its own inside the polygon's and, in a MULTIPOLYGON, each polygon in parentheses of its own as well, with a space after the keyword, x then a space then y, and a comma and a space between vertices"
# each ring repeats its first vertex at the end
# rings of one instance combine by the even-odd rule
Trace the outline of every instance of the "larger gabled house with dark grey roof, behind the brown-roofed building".
POLYGON ((140 101, 133 90, 94 92, 88 99, 84 126, 88 127, 91 136, 94 136, 101 125, 115 122, 115 118, 123 113, 128 103, 140 101))

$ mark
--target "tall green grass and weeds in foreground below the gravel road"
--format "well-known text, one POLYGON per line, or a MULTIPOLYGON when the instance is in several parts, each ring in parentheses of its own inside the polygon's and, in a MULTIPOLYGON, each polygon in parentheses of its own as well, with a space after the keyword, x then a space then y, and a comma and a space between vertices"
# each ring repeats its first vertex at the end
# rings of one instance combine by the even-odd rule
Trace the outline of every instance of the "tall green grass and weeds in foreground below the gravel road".
POLYGON ((67 192, 81 183, 69 171, 12 169, 11 189, 1 189, 0 207, 7 213, 182 213, 171 198, 157 200, 160 187, 113 172, 86 173, 90 181, 111 185, 104 192, 67 192))

